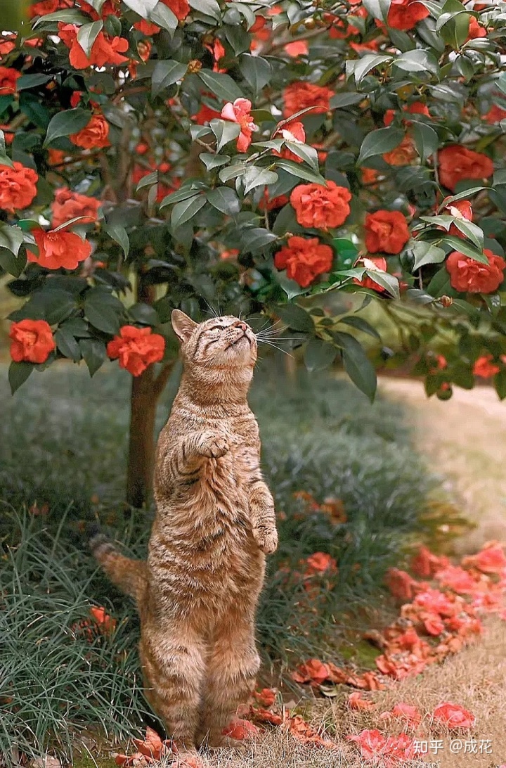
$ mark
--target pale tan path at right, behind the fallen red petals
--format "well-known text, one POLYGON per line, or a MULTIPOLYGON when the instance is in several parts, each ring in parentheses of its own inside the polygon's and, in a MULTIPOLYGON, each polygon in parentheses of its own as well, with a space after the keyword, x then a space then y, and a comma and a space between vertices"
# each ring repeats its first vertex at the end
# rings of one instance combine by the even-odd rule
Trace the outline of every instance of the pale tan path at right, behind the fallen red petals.
POLYGON ((419 448, 477 528, 460 553, 506 542, 506 402, 493 389, 455 389, 451 400, 425 396, 422 382, 382 379, 380 391, 411 407, 419 448))

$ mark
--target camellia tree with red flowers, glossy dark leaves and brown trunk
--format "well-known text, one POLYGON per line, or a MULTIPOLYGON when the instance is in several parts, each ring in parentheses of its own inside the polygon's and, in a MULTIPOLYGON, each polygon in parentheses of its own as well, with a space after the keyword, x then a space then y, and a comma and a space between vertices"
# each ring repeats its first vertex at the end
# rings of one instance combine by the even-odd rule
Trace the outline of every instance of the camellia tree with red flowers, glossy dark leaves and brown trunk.
POLYGON ((407 339, 394 361, 415 354, 429 394, 478 373, 506 396, 506 2, 41 0, 28 16, 0 41, 0 264, 25 298, 9 379, 61 358, 131 372, 131 504, 174 307, 280 318, 309 369, 340 356, 372 397, 361 310, 382 301, 407 339))

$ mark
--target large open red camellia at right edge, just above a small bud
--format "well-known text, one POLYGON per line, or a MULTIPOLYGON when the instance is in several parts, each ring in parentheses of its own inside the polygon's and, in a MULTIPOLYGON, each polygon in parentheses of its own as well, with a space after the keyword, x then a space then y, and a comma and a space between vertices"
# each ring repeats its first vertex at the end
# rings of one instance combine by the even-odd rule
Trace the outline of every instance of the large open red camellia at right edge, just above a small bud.
POLYGON ((506 261, 485 248, 488 264, 470 259, 464 253, 454 250, 446 260, 452 288, 464 293, 492 293, 498 290, 504 280, 506 261))

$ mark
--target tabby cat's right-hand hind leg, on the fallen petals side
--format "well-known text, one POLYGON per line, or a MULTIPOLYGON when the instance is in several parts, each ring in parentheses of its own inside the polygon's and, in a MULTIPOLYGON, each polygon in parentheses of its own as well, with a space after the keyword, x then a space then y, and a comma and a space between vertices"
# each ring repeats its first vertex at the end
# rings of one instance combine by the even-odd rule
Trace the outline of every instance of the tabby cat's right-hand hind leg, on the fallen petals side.
POLYGON ((232 607, 216 627, 203 685, 203 706, 197 745, 227 746, 233 740, 223 729, 246 703, 255 687, 260 657, 256 652, 254 607, 232 607))

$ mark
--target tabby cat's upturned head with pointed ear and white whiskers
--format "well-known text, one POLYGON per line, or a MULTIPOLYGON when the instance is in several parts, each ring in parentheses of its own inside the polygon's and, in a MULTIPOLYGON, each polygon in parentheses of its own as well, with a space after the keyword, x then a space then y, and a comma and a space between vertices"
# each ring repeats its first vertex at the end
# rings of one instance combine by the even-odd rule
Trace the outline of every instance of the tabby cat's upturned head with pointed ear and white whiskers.
POLYGON ((225 315, 195 323, 181 310, 173 310, 171 321, 184 359, 193 366, 207 369, 254 366, 256 336, 238 317, 225 315))

